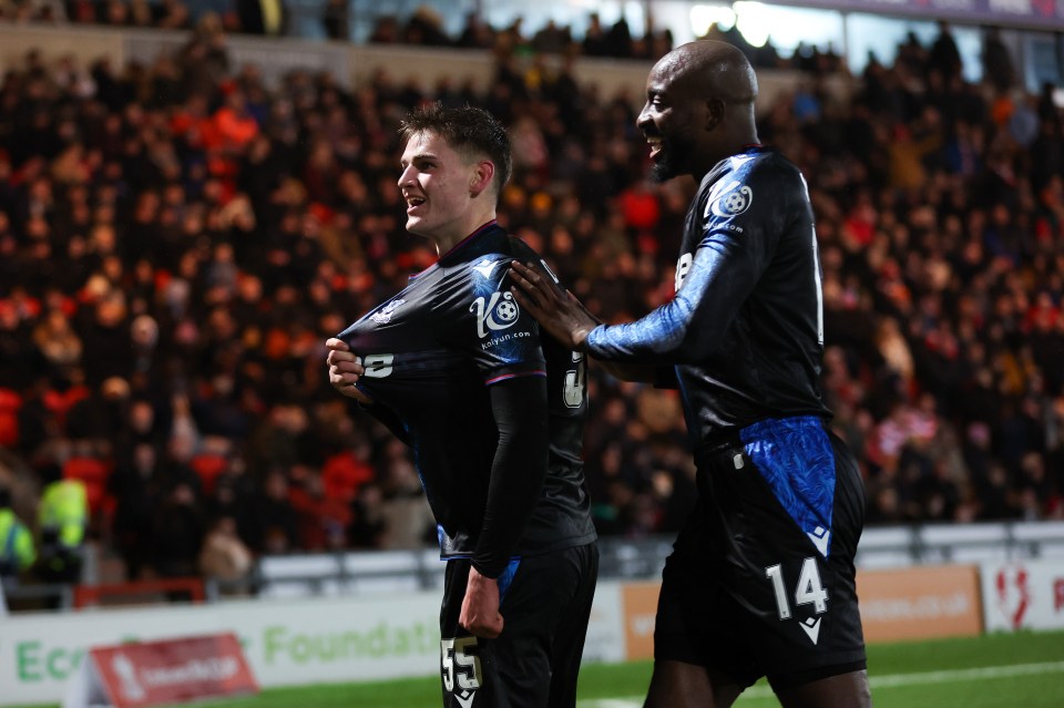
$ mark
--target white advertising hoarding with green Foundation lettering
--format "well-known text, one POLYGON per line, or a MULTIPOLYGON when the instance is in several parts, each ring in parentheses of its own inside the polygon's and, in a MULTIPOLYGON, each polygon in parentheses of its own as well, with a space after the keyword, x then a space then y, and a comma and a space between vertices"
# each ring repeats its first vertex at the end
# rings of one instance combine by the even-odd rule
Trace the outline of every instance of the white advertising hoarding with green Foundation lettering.
MULTIPOLYGON (((616 583, 595 593, 584 659, 625 656, 616 583)), ((0 706, 59 702, 93 646, 233 632, 263 687, 428 676, 440 594, 238 601, 0 617, 0 706)))

